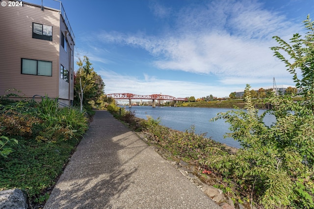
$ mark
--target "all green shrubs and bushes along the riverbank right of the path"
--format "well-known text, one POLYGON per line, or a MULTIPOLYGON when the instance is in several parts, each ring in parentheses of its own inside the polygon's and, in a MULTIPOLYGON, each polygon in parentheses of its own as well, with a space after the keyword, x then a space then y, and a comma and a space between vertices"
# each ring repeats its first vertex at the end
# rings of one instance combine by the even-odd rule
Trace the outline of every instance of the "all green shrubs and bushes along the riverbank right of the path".
MULTIPOLYGON (((304 38, 294 34, 288 44, 275 36, 279 46, 271 48, 292 74, 296 88, 301 90, 300 99, 294 99, 294 93, 273 93, 264 100, 272 109, 260 116, 247 85, 244 110, 220 113, 212 119, 230 123, 231 133, 227 136, 242 146, 236 153, 195 135, 193 128, 186 132, 171 131, 152 118, 135 119, 129 124, 150 133, 152 140, 173 156, 210 171, 209 175, 206 172, 208 182, 214 179, 214 186, 239 203, 261 209, 313 209, 314 22, 308 16, 304 24, 308 30, 304 38), (276 122, 265 125, 265 114, 274 115, 276 122)), ((124 117, 130 119, 132 113, 123 113, 124 117)))

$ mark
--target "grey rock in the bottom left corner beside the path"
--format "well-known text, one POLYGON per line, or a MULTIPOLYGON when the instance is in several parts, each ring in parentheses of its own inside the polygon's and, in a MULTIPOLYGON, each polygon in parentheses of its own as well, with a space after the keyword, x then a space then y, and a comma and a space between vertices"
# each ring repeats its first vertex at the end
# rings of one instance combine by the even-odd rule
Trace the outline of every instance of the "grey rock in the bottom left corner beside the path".
POLYGON ((0 191, 1 209, 27 209, 26 195, 21 189, 0 191))

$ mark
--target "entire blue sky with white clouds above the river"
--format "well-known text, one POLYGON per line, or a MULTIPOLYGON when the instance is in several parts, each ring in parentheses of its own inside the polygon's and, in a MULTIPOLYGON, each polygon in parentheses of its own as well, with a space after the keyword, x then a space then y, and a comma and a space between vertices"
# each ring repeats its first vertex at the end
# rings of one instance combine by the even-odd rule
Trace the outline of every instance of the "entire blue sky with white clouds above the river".
MULTIPOLYGON (((45 1, 45 0, 44 0, 45 1)), ((304 34, 313 0, 62 0, 105 93, 225 97, 291 85, 272 36, 304 34)))

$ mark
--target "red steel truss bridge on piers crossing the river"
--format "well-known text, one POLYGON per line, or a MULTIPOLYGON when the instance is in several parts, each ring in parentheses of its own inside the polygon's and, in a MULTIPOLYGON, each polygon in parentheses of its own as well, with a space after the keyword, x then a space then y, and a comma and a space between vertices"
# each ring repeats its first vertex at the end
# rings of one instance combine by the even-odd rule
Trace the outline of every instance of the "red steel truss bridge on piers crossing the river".
POLYGON ((152 99, 153 107, 156 107, 156 100, 173 100, 173 101, 187 101, 187 98, 176 98, 170 95, 151 94, 151 95, 137 95, 133 93, 110 93, 108 97, 114 99, 129 99, 129 107, 131 107, 131 99, 152 99))

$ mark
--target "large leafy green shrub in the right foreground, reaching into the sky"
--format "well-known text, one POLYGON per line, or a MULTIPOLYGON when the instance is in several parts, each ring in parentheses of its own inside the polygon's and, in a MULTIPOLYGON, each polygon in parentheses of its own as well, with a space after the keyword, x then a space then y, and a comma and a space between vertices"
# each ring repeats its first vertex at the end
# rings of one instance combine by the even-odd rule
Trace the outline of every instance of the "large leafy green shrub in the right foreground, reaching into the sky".
POLYGON ((242 148, 235 155, 209 158, 207 163, 235 179, 250 192, 251 202, 265 209, 314 208, 314 22, 308 16, 304 23, 308 30, 304 38, 294 34, 288 44, 275 36, 279 46, 271 48, 286 63, 303 100, 272 93, 265 102, 273 109, 259 115, 247 85, 245 110, 220 113, 212 119, 230 123, 231 133, 226 137, 239 141, 242 148), (276 122, 265 125, 266 114, 275 116, 276 122))

